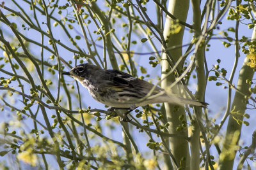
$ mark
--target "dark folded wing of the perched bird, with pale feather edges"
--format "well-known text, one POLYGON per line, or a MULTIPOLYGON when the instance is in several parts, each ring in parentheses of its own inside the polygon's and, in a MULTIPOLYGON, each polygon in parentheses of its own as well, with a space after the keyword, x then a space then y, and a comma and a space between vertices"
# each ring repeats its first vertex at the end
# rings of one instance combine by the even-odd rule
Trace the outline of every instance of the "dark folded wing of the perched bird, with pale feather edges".
MULTIPOLYGON (((104 80, 107 80, 107 85, 115 88, 138 90, 138 92, 143 92, 146 95, 154 87, 154 85, 147 81, 140 80, 130 74, 115 69, 106 70, 106 74, 104 75, 104 80)), ((163 89, 160 87, 155 87, 153 94, 161 92, 162 90, 163 89)))

